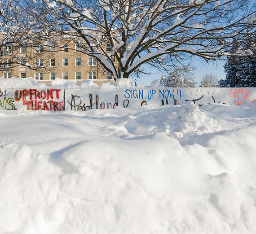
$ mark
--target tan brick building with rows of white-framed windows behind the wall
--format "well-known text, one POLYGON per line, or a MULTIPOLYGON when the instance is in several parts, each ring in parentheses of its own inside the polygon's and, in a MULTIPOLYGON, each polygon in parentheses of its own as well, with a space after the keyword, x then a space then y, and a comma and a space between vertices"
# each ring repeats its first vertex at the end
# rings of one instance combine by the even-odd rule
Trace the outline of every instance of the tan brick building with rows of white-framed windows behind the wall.
MULTIPOLYGON (((3 51, 1 60, 6 63, 0 71, 3 78, 32 77, 45 84, 50 84, 55 78, 76 80, 78 84, 84 79, 91 79, 98 85, 115 82, 95 58, 81 52, 73 41, 61 41, 56 47, 49 44, 17 49, 6 46, 3 51)), ((110 44, 106 44, 106 51, 111 52, 110 44)))

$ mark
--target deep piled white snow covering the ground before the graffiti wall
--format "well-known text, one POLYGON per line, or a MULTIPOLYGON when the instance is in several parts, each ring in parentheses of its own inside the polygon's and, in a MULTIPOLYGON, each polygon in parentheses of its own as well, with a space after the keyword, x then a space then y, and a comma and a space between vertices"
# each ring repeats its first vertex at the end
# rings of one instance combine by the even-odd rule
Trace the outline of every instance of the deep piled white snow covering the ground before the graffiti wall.
POLYGON ((256 104, 1 110, 0 233, 256 233, 256 104))

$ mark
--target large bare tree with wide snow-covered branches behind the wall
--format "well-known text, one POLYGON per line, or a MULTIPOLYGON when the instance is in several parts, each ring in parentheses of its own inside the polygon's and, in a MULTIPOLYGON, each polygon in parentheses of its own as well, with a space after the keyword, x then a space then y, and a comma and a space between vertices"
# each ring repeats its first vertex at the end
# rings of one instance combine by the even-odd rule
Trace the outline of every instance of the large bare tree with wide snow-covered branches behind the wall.
POLYGON ((166 71, 189 56, 211 60, 226 55, 234 37, 239 41, 248 27, 256 26, 255 5, 248 9, 247 3, 23 0, 21 7, 53 35, 70 36, 117 79, 143 72, 143 64, 166 71))

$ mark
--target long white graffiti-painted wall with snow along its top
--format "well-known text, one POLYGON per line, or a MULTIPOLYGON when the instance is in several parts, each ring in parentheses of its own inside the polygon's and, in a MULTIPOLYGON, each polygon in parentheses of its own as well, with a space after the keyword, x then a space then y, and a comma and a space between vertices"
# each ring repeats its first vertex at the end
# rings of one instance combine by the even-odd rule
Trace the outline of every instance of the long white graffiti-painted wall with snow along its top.
POLYGON ((132 87, 128 79, 120 79, 98 87, 91 80, 81 85, 74 81, 55 80, 52 85, 34 79, 0 79, 0 108, 8 110, 86 111, 143 105, 180 105, 188 102, 241 105, 256 103, 256 88, 166 88, 152 82, 151 86, 132 87), (18 82, 17 82, 18 81, 18 82))

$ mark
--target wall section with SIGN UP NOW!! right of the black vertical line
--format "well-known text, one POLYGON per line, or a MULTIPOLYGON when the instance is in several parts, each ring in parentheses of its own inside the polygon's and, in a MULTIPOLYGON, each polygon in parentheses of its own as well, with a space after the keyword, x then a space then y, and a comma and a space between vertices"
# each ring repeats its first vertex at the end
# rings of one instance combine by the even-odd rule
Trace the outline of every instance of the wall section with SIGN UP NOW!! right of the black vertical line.
POLYGON ((66 89, 66 109, 86 111, 118 106, 185 104, 199 106, 209 103, 241 105, 256 103, 256 88, 136 88, 113 90, 66 89))

